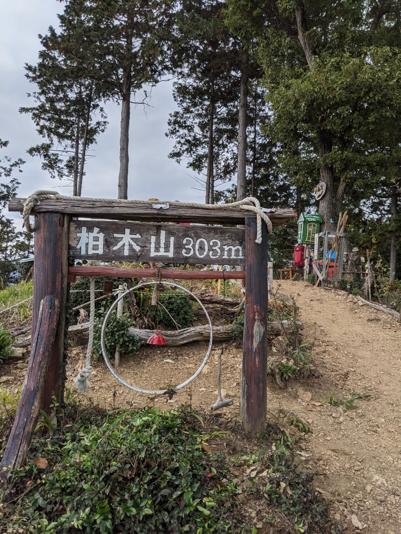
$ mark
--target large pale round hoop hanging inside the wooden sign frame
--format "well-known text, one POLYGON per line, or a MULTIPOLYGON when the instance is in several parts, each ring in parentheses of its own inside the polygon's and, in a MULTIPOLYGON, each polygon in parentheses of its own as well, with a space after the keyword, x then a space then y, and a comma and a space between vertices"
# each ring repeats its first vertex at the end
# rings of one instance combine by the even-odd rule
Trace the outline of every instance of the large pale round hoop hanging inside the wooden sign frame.
POLYGON ((203 359, 203 362, 201 364, 201 366, 199 366, 199 368, 197 369, 197 371, 192 375, 190 376, 190 378, 188 380, 186 380, 185 382, 182 382, 181 384, 179 384, 178 386, 175 386, 174 387, 174 390, 177 391, 179 389, 182 389, 184 388, 185 386, 188 386, 189 383, 192 382, 192 380, 195 380, 196 377, 198 376, 199 373, 201 373, 202 369, 204 368, 204 366, 206 365, 207 363, 207 360, 209 359, 209 356, 210 356, 210 352, 212 350, 212 343, 213 343, 213 327, 212 327, 212 322, 210 320, 210 317, 209 317, 209 313, 207 313, 206 311, 206 308, 204 307, 204 305, 202 304, 202 302, 198 299, 198 297, 196 295, 194 295, 194 293, 192 293, 189 289, 187 289, 186 287, 183 287, 183 286, 180 286, 179 284, 174 284, 173 282, 164 282, 164 281, 153 281, 153 282, 140 282, 139 284, 137 284, 136 286, 134 287, 130 287, 129 289, 127 289, 124 293, 120 293, 118 299, 116 299, 112 305, 110 306, 109 308, 109 311, 107 311, 106 313, 106 316, 104 318, 104 321, 103 321, 103 325, 102 325, 102 331, 101 331, 101 346, 102 346, 102 354, 103 354, 103 358, 104 358, 104 361, 106 362, 106 365, 107 367, 109 367, 109 371, 111 372, 111 374, 114 376, 114 378, 117 378, 117 380, 119 382, 121 382, 122 384, 124 384, 124 386, 126 386, 127 388, 129 389, 132 389, 134 391, 137 391, 138 393, 143 393, 144 395, 164 395, 165 393, 168 392, 167 389, 158 389, 158 390, 149 390, 149 389, 141 389, 141 388, 137 388, 135 386, 133 386, 132 384, 126 382, 124 380, 124 378, 122 378, 122 376, 120 376, 116 371, 115 369, 113 368, 113 366, 111 365, 110 363, 110 359, 109 359, 109 356, 107 355, 107 352, 106 352, 106 347, 105 347, 105 342, 104 342, 104 333, 105 333, 105 330, 106 330, 106 326, 107 326, 107 321, 109 320, 109 317, 111 315, 111 312, 114 310, 114 308, 117 306, 117 304, 119 303, 119 301, 121 299, 124 299, 125 295, 127 295, 127 293, 129 293, 130 291, 133 291, 134 289, 137 289, 138 287, 144 287, 144 286, 155 286, 155 285, 160 285, 160 284, 163 284, 165 286, 173 286, 173 287, 178 287, 179 289, 182 289, 184 292, 188 293, 189 295, 191 295, 192 297, 194 297, 194 299, 201 305, 201 308, 206 316, 206 319, 207 319, 207 322, 209 323, 209 328, 210 328, 210 341, 209 341, 209 347, 207 348, 207 352, 206 352, 206 356, 205 358, 203 359))

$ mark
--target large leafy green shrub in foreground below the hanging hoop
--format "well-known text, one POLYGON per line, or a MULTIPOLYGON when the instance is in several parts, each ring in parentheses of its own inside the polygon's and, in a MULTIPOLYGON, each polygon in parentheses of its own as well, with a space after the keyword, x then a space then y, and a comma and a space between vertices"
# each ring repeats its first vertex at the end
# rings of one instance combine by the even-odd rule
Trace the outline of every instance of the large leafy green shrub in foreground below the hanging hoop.
POLYGON ((226 462, 205 452, 194 422, 184 409, 114 412, 103 424, 68 425, 63 440, 42 438, 31 454, 49 466, 28 461, 18 470, 18 509, 13 524, 2 521, 26 533, 249 532, 226 462))

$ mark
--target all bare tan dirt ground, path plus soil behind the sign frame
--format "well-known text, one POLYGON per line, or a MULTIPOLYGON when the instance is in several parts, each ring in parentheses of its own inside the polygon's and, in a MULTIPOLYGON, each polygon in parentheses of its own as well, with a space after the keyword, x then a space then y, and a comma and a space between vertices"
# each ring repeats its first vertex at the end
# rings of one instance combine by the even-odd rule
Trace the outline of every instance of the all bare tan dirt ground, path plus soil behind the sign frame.
MULTIPOLYGON (((280 411, 292 412, 306 422, 312 434, 304 436, 302 456, 319 476, 315 489, 329 500, 332 514, 346 534, 399 534, 400 507, 400 392, 401 328, 389 315, 352 301, 344 292, 314 288, 295 281, 280 282, 279 292, 294 297, 305 325, 305 341, 312 343, 317 373, 305 380, 289 380, 284 388, 268 379, 268 419, 280 411), (327 402, 331 398, 357 399, 355 409, 327 402)), ((202 362, 206 342, 180 348, 146 345, 137 355, 122 358, 119 373, 144 389, 165 389, 192 375, 202 362)), ((84 366, 85 348, 70 351, 68 385, 84 366)), ((213 345, 209 362, 188 387, 171 400, 150 398, 122 386, 104 363, 95 364, 89 395, 102 407, 140 409, 154 404, 161 410, 180 404, 210 413, 217 400, 216 373, 221 343, 213 345)), ((239 417, 242 349, 223 345, 222 394, 233 405, 219 417, 239 417)), ((7 387, 22 383, 26 363, 2 366, 7 387)), ((237 447, 238 448, 238 447, 237 447)), ((266 531, 267 532, 267 531, 266 531)), ((274 534, 274 530, 268 530, 274 534)))

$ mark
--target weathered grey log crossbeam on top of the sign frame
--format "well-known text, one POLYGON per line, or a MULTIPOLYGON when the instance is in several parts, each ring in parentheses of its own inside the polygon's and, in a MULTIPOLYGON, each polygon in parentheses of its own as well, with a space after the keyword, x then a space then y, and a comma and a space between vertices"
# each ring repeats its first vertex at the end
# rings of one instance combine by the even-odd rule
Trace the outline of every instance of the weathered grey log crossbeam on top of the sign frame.
MULTIPOLYGON (((9 210, 22 213, 25 200, 25 198, 12 199, 9 203, 9 210)), ((156 202, 155 205, 162 205, 163 203, 165 201, 156 202)), ((53 211, 69 214, 73 217, 201 224, 244 224, 245 217, 256 217, 252 212, 241 208, 218 206, 218 208, 169 206, 167 209, 163 209, 153 208, 151 203, 147 205, 135 200, 119 203, 113 199, 104 201, 96 201, 96 199, 47 199, 36 203, 32 213, 35 215, 53 211)), ((297 218, 296 212, 291 208, 264 208, 264 211, 274 226, 281 226, 291 219, 297 218)))

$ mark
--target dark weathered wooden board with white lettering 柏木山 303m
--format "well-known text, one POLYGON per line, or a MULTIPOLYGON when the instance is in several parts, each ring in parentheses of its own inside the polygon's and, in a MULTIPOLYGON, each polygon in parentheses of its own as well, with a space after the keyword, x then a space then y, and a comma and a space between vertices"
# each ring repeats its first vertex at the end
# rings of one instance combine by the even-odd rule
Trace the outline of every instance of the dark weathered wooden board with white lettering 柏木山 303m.
POLYGON ((221 226, 72 221, 75 260, 245 265, 245 231, 221 226))

